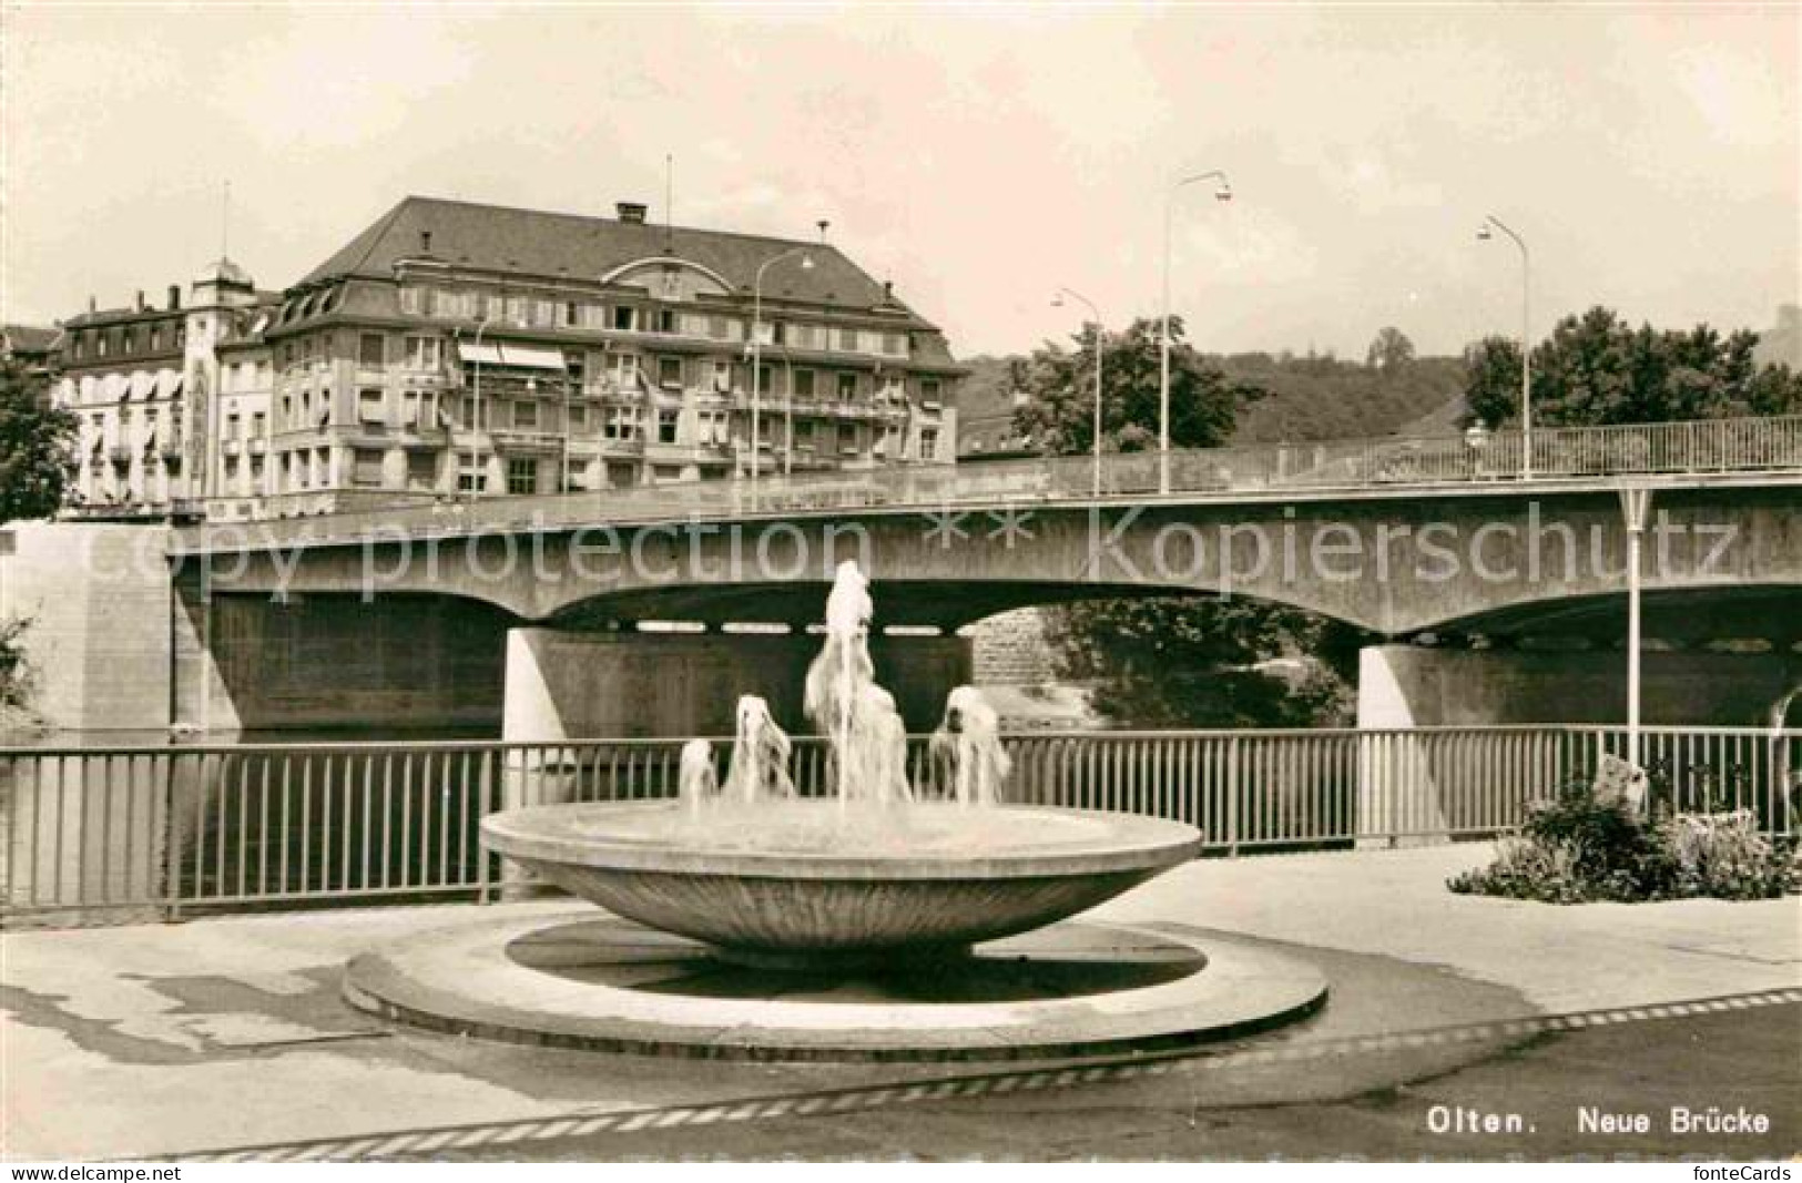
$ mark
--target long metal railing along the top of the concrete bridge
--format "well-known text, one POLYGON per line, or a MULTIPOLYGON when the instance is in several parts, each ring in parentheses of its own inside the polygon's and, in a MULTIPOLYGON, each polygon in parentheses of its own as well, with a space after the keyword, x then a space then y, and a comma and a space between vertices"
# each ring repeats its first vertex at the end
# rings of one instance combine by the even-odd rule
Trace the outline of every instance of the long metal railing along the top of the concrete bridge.
MULTIPOLYGON (((1802 472, 1802 416, 1696 420, 1622 427, 1539 429, 1526 463, 1519 432, 1323 443, 1188 448, 1169 456, 1169 495, 1281 490, 1440 486, 1521 477, 1584 479, 1710 472, 1802 472)), ((1155 452, 1101 459, 1105 499, 1160 495, 1155 452)), ((1092 457, 1042 457, 969 465, 914 465, 863 472, 688 481, 593 493, 395 504, 301 519, 216 522, 189 544, 283 546, 362 538, 413 538, 586 524, 730 519, 867 508, 941 508, 1009 501, 1083 501, 1096 486, 1092 457)))

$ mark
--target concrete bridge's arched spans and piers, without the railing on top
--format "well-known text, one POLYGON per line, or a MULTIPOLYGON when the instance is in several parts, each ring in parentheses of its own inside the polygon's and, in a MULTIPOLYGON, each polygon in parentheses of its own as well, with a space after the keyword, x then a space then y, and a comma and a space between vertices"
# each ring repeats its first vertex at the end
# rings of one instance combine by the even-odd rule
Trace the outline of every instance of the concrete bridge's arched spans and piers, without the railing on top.
MULTIPOLYGON (((499 691, 517 738, 723 729, 741 691, 798 700, 816 648, 805 628, 845 558, 876 580, 890 634, 878 643, 881 675, 915 727, 968 679, 969 646, 955 632, 971 621, 1069 600, 1220 594, 1391 641, 1364 657, 1371 726, 1600 722, 1618 718, 1624 693, 1624 659, 1606 654, 1624 636, 1622 484, 998 497, 623 524, 524 517, 234 546, 200 531, 184 540, 178 573, 211 655, 198 668, 213 718, 229 704, 245 726, 344 711, 476 722, 499 691), (681 632, 645 632, 660 627, 681 632), (1479 648, 1463 646, 1469 637, 1479 648), (1438 646, 1418 645, 1427 639, 1438 646)), ((1647 718, 1746 722, 1802 681, 1802 472, 1631 484, 1652 492, 1647 718), (1701 648, 1721 639, 1757 652, 1701 648)))

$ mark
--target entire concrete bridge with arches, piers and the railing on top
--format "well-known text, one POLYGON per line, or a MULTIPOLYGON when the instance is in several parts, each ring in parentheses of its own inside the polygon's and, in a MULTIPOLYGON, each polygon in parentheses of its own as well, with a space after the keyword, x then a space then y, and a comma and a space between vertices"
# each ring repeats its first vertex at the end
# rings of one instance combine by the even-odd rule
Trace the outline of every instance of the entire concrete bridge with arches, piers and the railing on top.
MULTIPOLYGON (((1364 655, 1371 726, 1609 722, 1624 706, 1622 493, 1643 488, 1647 718, 1753 722, 1802 681, 1802 418, 1537 432, 1532 456, 1521 443, 1182 452, 1168 492, 1155 456, 1083 457, 220 522, 132 544, 153 542, 139 578, 169 603, 168 718, 205 729, 490 727, 505 713, 519 738, 670 735, 724 727, 741 691, 798 722, 786 704, 816 648, 805 630, 845 558, 876 580, 879 675, 915 727, 968 679, 964 625, 1220 594, 1382 641, 1364 655)), ((108 578, 88 610, 126 585, 108 578)), ((61 601, 85 594, 65 583, 38 603, 72 610, 61 601)))

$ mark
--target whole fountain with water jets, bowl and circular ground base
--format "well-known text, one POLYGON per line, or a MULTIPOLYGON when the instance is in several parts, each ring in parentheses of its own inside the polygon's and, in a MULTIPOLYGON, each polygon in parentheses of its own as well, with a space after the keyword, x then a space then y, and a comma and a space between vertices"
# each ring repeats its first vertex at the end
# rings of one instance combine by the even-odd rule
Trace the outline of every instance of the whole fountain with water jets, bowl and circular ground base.
POLYGON ((346 996, 436 1030, 777 1059, 1162 1046, 1321 1005, 1319 974, 1267 949, 1067 920, 1189 861, 1200 834, 1007 803, 1000 722, 971 686, 910 780, 872 614, 863 573, 840 564, 802 702, 827 749, 820 785, 796 790, 789 736, 746 695, 724 776, 697 738, 674 799, 481 821, 490 850, 614 918, 470 922, 357 958, 346 996))

